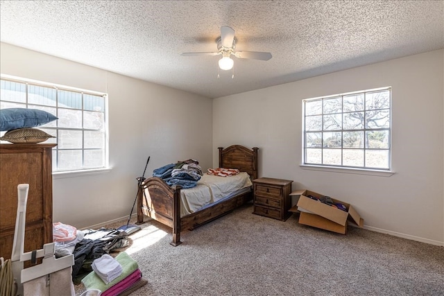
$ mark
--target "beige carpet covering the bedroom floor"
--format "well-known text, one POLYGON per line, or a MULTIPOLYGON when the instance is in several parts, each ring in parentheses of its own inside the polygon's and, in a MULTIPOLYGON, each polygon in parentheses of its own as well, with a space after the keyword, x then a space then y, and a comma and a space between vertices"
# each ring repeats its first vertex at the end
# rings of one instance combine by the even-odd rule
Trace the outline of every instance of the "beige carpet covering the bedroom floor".
POLYGON ((148 284, 131 295, 444 295, 443 247, 252 211, 248 204, 184 232, 178 247, 169 227, 142 225, 126 252, 148 284))

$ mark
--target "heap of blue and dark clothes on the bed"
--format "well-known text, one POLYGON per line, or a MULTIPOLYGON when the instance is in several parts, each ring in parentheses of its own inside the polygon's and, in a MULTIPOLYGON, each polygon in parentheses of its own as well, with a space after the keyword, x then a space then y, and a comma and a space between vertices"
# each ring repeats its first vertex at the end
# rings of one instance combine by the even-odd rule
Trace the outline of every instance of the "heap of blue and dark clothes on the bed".
POLYGON ((196 186, 202 175, 202 168, 195 159, 167 164, 153 171, 153 177, 160 177, 169 186, 180 185, 183 189, 196 186))

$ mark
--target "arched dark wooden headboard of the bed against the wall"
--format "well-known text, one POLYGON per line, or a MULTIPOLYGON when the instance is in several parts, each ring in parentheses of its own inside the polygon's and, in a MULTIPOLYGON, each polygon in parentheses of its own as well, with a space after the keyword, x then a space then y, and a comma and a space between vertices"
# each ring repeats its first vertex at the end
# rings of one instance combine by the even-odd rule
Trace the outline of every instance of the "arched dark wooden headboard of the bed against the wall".
POLYGON ((257 179, 257 150, 248 149, 241 145, 232 145, 228 148, 219 147, 219 168, 237 168, 257 179))

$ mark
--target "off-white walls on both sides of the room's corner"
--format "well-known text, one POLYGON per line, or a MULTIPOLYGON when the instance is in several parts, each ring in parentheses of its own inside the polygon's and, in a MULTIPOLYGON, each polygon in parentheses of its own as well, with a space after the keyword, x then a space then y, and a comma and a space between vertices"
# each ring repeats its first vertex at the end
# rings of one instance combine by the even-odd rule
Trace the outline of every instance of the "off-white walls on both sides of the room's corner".
MULTIPOLYGON (((142 174, 185 158, 217 166, 217 147, 259 147, 259 176, 353 204, 368 229, 444 245, 444 52, 432 51, 213 101, 0 44, 4 74, 107 92, 109 173, 53 180, 53 220, 78 228, 128 216, 142 174), (302 99, 393 87, 391 177, 300 168, 302 99), (232 119, 227 121, 226 119, 232 119), (202 124, 202 123, 205 124, 202 124)), ((1 180, 0 180, 1 182, 1 180)))

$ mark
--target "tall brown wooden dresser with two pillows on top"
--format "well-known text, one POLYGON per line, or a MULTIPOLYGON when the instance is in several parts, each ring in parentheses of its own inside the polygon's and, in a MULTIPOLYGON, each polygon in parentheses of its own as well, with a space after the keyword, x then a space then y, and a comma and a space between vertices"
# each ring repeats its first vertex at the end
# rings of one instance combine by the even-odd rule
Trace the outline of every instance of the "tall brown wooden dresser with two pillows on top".
POLYGON ((56 144, 0 144, 0 256, 10 259, 17 185, 29 184, 24 252, 53 241, 52 148, 56 144))

